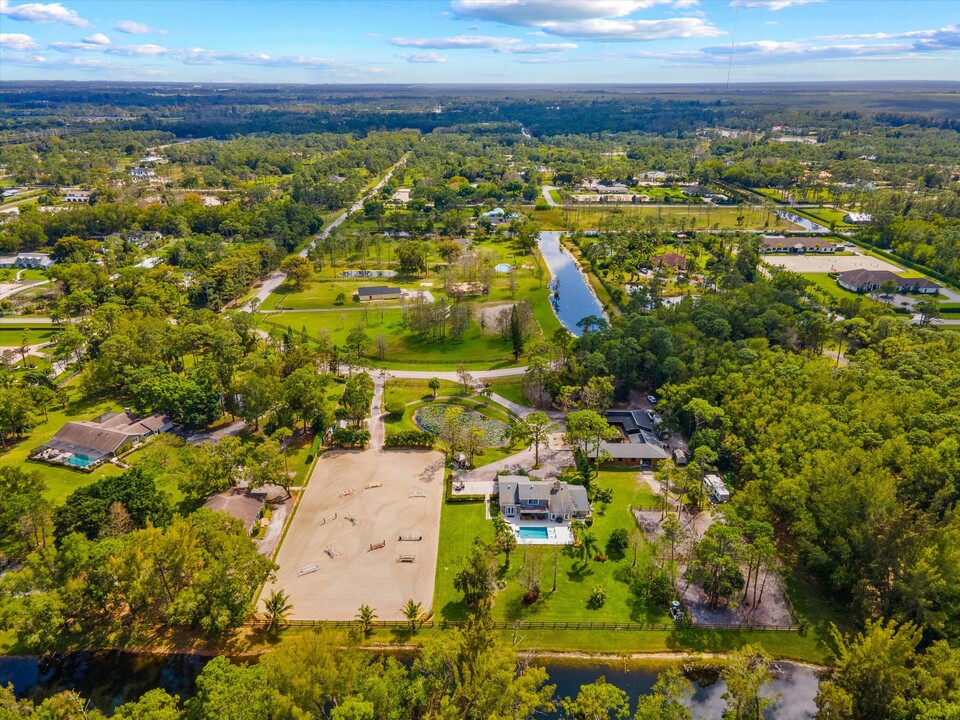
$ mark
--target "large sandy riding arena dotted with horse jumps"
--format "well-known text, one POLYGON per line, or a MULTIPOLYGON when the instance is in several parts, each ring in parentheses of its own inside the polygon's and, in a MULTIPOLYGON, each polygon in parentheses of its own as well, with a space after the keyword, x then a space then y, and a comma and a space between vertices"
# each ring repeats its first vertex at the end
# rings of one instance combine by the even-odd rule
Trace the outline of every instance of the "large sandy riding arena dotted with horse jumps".
POLYGON ((352 620, 361 605, 403 620, 433 604, 443 500, 438 452, 335 451, 310 478, 277 556, 290 619, 352 620), (403 539, 401 539, 403 538, 403 539))

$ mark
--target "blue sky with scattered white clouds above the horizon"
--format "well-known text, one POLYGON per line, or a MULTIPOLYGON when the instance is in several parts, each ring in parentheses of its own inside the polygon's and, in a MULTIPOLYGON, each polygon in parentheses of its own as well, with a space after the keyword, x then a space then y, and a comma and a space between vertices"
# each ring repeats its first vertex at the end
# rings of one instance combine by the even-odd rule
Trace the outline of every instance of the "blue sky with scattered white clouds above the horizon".
POLYGON ((0 0, 0 79, 960 81, 958 23, 958 0, 0 0))

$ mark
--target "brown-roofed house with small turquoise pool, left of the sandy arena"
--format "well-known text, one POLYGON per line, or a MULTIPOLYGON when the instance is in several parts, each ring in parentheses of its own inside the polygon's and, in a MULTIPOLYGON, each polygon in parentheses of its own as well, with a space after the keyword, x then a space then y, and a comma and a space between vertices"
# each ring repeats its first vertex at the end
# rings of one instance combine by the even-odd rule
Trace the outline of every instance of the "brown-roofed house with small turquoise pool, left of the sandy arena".
POLYGON ((89 470, 115 457, 124 448, 172 427, 169 415, 138 418, 128 409, 108 412, 93 420, 66 423, 53 438, 34 448, 30 459, 89 470))

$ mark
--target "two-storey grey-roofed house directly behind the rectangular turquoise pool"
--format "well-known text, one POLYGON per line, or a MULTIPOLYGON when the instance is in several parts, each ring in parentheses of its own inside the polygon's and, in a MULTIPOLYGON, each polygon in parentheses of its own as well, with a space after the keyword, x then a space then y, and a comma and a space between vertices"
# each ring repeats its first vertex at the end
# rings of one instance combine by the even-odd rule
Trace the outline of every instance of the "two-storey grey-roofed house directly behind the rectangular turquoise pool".
POLYGON ((587 489, 560 480, 533 480, 523 475, 497 479, 500 512, 507 520, 552 520, 565 522, 590 515, 587 489))

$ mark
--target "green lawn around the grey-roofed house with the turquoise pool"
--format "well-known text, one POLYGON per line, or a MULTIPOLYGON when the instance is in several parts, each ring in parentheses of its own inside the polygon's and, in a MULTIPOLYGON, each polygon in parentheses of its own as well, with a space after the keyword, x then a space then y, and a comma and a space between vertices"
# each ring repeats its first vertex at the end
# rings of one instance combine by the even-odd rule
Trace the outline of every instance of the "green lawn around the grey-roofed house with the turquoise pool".
MULTIPOLYGON (((605 551, 606 542, 615 529, 635 527, 629 506, 649 505, 653 496, 646 484, 639 481, 635 470, 604 470, 594 483, 613 490, 613 502, 609 506, 594 507, 591 531, 597 537, 601 551, 605 551)), ((486 542, 493 539, 493 524, 484 519, 482 504, 446 504, 440 521, 440 537, 443 542, 437 562, 434 609, 442 618, 463 619, 469 614, 469 608, 454 589, 453 579, 473 538, 480 537, 486 542)), ((502 556, 499 559, 502 562, 502 556)), ((591 559, 584 565, 566 547, 520 546, 511 555, 510 568, 503 571, 506 587, 496 595, 493 617, 495 620, 547 622, 571 619, 584 622, 665 621, 666 608, 648 607, 630 592, 624 573, 631 563, 630 552, 623 559, 606 562, 591 559), (526 561, 525 554, 540 555, 542 559, 541 599, 530 607, 522 602, 523 588, 518 582, 520 569, 526 561), (554 560, 557 561, 557 592, 551 593, 554 560), (587 600, 597 585, 606 591, 606 603, 602 608, 590 609, 587 600)))

